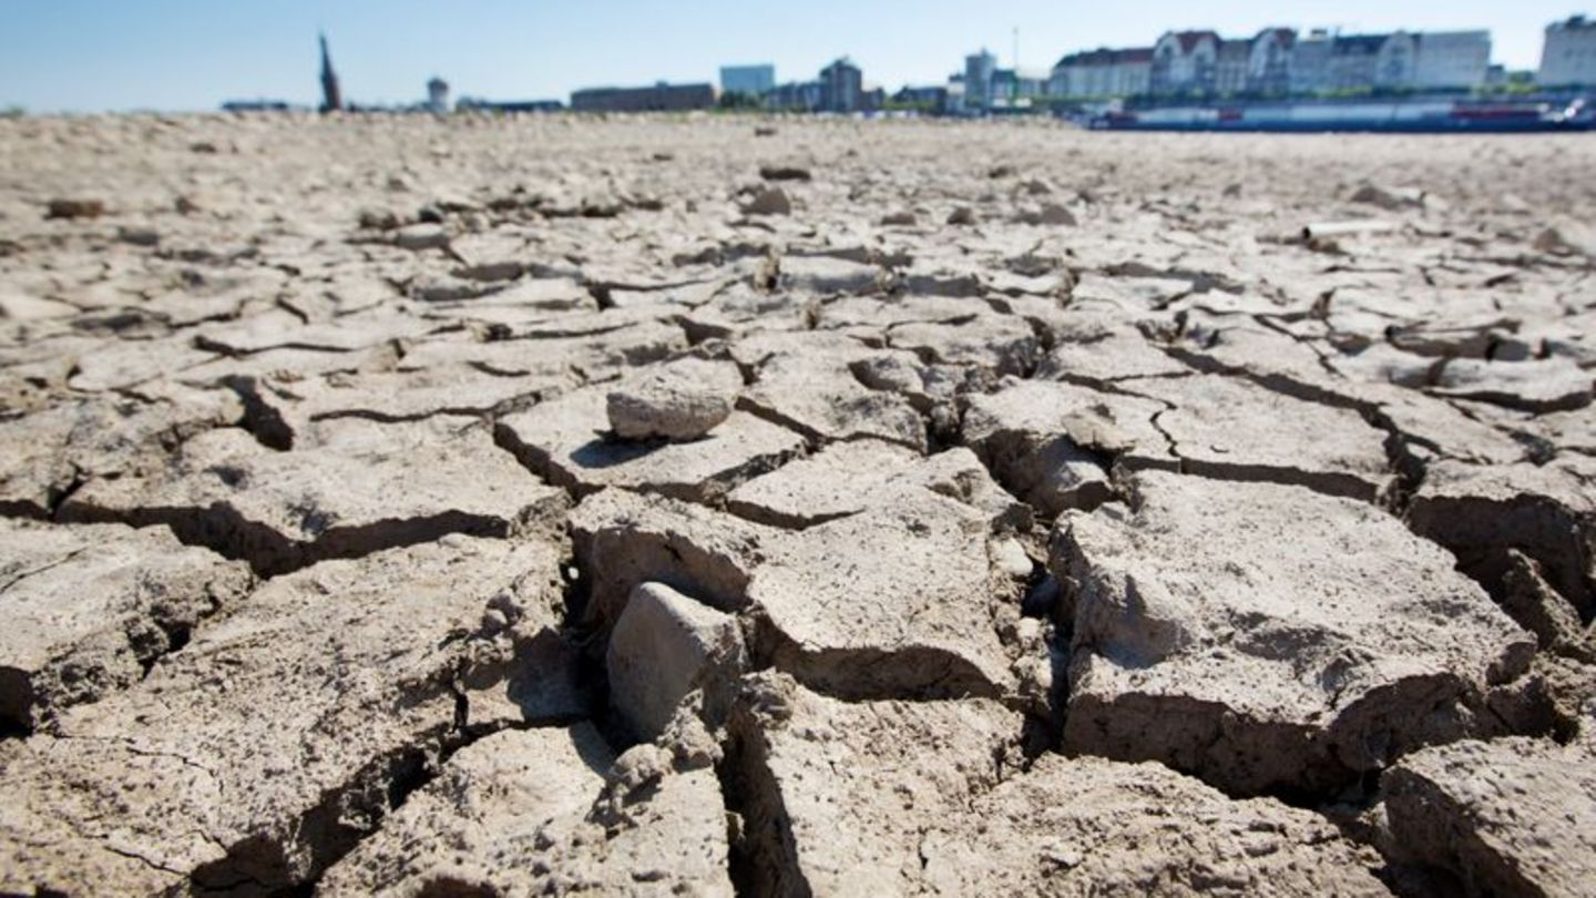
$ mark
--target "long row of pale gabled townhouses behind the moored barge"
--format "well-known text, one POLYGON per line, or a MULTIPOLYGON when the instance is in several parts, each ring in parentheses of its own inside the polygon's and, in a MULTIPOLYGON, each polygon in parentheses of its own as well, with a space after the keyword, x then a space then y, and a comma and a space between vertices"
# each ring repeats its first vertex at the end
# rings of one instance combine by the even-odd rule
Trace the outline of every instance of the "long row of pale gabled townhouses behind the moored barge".
POLYGON ((1285 94, 1486 83, 1491 32, 1342 35, 1264 29, 1251 38, 1167 32, 1149 48, 1093 50, 1058 61, 1053 96, 1285 94))

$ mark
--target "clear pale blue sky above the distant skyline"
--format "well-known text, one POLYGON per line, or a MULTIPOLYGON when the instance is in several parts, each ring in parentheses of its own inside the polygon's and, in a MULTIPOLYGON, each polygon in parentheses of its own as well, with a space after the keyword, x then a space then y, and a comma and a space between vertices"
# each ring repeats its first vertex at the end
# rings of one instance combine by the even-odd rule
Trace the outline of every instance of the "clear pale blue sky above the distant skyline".
MULTIPOLYGON (((1578 2, 1578 0, 1574 0, 1578 2)), ((713 81, 772 62, 812 78, 849 54, 894 89, 940 83, 990 46, 1049 67, 1167 29, 1491 29, 1494 58, 1534 67, 1570 0, 0 0, 0 107, 207 110, 223 99, 313 104, 326 29, 346 99, 409 102, 440 75, 455 96, 567 99, 598 85, 713 81)), ((1596 11, 1596 10, 1591 10, 1596 11)))

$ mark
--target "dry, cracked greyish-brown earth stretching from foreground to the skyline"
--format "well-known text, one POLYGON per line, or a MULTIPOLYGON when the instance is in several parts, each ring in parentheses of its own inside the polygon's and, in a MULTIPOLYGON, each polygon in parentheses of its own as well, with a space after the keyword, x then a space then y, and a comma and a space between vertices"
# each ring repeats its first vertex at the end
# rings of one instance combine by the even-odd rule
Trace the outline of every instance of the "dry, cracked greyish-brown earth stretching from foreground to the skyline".
POLYGON ((1596 888, 1590 137, 0 160, 0 892, 1596 888))

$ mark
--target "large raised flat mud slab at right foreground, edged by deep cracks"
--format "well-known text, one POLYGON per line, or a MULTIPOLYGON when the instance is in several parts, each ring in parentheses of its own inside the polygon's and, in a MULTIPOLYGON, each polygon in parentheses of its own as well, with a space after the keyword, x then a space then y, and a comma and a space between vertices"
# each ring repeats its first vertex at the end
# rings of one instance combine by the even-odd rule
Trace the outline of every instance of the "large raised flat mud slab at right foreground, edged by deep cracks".
POLYGON ((1323 793, 1494 732, 1489 689, 1535 642, 1396 518, 1162 471, 1128 489, 1058 526, 1053 572, 1079 588, 1066 749, 1323 793))

